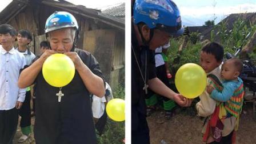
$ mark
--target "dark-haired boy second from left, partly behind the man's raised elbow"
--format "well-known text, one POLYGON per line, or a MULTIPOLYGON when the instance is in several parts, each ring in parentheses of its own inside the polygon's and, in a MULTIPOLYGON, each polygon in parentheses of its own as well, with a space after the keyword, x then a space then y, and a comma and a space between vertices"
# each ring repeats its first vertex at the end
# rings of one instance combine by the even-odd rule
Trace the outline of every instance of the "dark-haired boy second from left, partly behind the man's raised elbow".
MULTIPOLYGON (((18 47, 15 49, 25 56, 27 65, 30 65, 35 58, 35 55, 29 50, 29 43, 32 41, 32 35, 28 30, 18 31, 18 47)), ((30 87, 26 89, 26 97, 23 102, 23 106, 19 110, 19 115, 21 116, 21 131, 22 136, 19 138, 18 142, 25 142, 29 135, 31 134, 31 109, 30 109, 30 99, 31 91, 30 87)))

